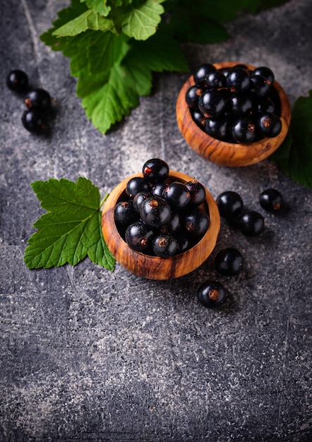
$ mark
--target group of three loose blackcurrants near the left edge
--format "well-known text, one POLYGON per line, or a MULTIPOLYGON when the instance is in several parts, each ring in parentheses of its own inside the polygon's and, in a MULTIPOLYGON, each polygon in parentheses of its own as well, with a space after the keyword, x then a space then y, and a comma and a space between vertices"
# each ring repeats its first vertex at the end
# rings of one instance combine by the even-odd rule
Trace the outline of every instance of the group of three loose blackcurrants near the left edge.
POLYGON ((49 120, 52 117, 52 100, 49 92, 42 88, 30 88, 27 73, 19 69, 8 73, 6 85, 9 89, 23 94, 27 108, 22 115, 23 127, 37 135, 47 133, 49 120))

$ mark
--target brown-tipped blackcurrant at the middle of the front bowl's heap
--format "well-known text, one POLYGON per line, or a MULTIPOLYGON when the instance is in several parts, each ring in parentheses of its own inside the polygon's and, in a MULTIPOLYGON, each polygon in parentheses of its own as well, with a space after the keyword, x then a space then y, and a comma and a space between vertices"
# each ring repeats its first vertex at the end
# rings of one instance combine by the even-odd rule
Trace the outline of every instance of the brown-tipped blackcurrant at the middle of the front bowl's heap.
POLYGON ((172 210, 164 199, 152 196, 140 205, 140 217, 150 227, 166 225, 172 216, 172 210))

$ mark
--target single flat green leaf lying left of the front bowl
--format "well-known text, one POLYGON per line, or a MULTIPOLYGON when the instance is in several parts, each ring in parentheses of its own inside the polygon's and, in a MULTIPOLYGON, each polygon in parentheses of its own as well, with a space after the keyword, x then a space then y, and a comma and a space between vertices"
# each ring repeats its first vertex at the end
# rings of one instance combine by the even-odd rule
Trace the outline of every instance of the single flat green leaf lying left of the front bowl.
POLYGON ((90 180, 35 181, 32 189, 47 213, 33 225, 37 232, 28 240, 24 255, 28 268, 76 265, 88 255, 104 268, 114 269, 114 258, 102 237, 100 192, 90 180))

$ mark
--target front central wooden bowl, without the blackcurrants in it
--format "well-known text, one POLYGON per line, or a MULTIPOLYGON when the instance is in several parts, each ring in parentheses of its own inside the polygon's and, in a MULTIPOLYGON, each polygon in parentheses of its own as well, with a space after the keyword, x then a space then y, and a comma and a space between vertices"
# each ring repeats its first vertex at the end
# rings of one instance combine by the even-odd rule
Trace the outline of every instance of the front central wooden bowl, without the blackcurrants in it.
MULTIPOLYGON (((179 253, 171 258, 159 258, 158 256, 145 255, 132 250, 122 239, 114 222, 114 208, 116 203, 125 198, 126 184, 133 177, 143 177, 142 174, 133 174, 121 181, 109 194, 102 210, 102 232, 107 244, 116 261, 127 270, 140 277, 152 280, 169 280, 190 273, 199 267, 215 249, 217 236, 220 232, 220 214, 215 200, 206 190, 206 201, 200 208, 207 213, 209 211, 210 225, 202 239, 191 249, 179 253)), ((192 177, 170 170, 168 182, 181 181, 186 183, 192 177)))

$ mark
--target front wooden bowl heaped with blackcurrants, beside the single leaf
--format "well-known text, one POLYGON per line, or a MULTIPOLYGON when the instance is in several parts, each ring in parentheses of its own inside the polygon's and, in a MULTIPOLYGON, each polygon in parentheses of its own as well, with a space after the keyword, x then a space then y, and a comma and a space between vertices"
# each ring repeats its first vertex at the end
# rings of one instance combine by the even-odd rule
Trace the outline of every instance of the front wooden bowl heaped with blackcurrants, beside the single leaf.
POLYGON ((152 158, 121 181, 102 210, 102 233, 131 273, 169 280, 198 268, 215 249, 220 214, 196 179, 152 158))

